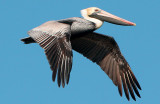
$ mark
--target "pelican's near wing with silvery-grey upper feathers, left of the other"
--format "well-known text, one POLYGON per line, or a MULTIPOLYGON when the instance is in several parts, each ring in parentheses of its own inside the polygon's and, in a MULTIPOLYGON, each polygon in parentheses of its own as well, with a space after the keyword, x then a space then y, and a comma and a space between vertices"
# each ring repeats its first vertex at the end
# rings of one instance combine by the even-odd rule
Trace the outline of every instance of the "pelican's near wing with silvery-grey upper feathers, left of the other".
POLYGON ((68 84, 72 68, 72 47, 70 43, 70 25, 56 21, 46 22, 28 32, 44 50, 53 71, 52 79, 60 87, 68 84), (58 70, 58 72, 57 72, 58 70))

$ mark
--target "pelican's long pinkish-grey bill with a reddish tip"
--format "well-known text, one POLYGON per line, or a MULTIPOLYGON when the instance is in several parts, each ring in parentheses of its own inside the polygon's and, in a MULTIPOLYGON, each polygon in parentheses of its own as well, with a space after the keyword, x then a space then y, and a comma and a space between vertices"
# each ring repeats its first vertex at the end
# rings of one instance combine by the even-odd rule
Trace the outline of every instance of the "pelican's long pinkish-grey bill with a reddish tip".
POLYGON ((97 18, 99 20, 106 21, 106 22, 113 23, 113 24, 117 24, 117 25, 136 26, 135 23, 127 21, 127 20, 122 19, 120 17, 117 17, 115 15, 112 15, 104 10, 100 10, 99 12, 93 13, 90 16, 97 18))

